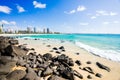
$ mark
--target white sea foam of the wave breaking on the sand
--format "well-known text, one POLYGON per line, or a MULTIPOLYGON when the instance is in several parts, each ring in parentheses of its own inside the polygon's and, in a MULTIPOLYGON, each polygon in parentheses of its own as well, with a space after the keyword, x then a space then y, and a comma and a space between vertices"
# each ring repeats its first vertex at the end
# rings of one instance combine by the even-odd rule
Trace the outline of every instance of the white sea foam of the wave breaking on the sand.
POLYGON ((94 55, 98 55, 100 57, 103 58, 107 58, 109 60, 113 60, 113 61, 119 61, 120 62, 120 53, 116 52, 114 50, 101 50, 95 47, 91 47, 89 45, 83 44, 79 41, 75 41, 75 44, 85 50, 87 50, 88 52, 94 54, 94 55))

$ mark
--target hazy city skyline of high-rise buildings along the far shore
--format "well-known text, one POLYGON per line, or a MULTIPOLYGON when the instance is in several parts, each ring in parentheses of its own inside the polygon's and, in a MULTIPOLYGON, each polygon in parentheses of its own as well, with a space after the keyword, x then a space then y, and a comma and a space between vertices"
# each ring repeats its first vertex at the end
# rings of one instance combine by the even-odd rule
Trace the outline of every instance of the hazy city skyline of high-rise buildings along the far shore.
POLYGON ((38 29, 37 27, 26 27, 26 29, 12 29, 0 25, 0 34, 60 34, 60 32, 52 31, 50 28, 38 29))

